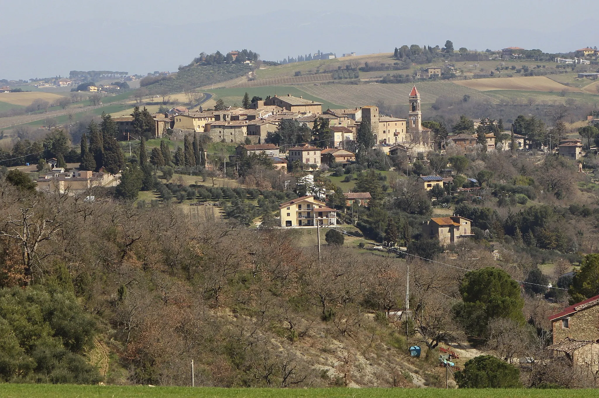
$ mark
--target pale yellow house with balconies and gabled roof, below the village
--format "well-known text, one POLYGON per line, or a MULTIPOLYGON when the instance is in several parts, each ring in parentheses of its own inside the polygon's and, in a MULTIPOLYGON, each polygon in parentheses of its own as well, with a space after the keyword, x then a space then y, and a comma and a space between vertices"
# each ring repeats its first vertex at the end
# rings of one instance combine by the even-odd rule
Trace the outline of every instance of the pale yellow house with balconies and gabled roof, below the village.
POLYGON ((279 206, 281 227, 313 227, 337 225, 337 211, 313 195, 302 196, 279 206))

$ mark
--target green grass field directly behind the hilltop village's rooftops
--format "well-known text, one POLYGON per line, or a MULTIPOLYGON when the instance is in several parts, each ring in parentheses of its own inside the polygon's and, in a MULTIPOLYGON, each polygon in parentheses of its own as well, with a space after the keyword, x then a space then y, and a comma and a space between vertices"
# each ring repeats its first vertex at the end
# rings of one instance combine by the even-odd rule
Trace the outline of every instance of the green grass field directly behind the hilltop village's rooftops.
POLYGON ((343 108, 341 105, 334 104, 329 101, 325 101, 324 99, 313 96, 309 93, 306 93, 302 90, 299 90, 294 86, 264 86, 264 87, 247 87, 247 88, 238 88, 238 89, 214 89, 207 90, 210 93, 214 94, 214 99, 222 99, 225 101, 226 105, 233 106, 237 104, 238 107, 241 107, 241 101, 243 100, 243 95, 247 92, 250 96, 250 99, 253 96, 259 96, 262 98, 266 98, 268 95, 274 96, 285 96, 291 94, 293 96, 303 96, 305 99, 310 99, 312 101, 322 102, 322 109, 326 110, 326 108, 331 109, 339 109, 343 108))

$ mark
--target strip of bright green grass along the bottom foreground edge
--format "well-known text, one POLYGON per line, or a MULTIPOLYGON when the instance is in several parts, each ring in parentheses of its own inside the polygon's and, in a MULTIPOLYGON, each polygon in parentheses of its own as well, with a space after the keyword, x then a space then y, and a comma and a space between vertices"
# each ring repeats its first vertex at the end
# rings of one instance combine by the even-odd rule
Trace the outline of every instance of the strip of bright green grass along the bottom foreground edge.
POLYGON ((451 390, 442 388, 190 388, 99 385, 1 384, 0 398, 504 398, 597 397, 596 390, 451 390))

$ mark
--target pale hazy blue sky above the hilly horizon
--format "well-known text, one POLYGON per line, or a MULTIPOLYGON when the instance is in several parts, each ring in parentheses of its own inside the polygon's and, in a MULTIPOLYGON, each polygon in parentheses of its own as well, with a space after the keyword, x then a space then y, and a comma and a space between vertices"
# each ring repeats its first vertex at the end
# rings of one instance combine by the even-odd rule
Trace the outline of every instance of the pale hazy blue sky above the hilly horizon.
POLYGON ((403 44, 546 52, 598 45, 596 0, 0 0, 0 78, 176 71, 201 51, 265 60, 403 44), (588 10, 588 13, 580 10, 588 10))

